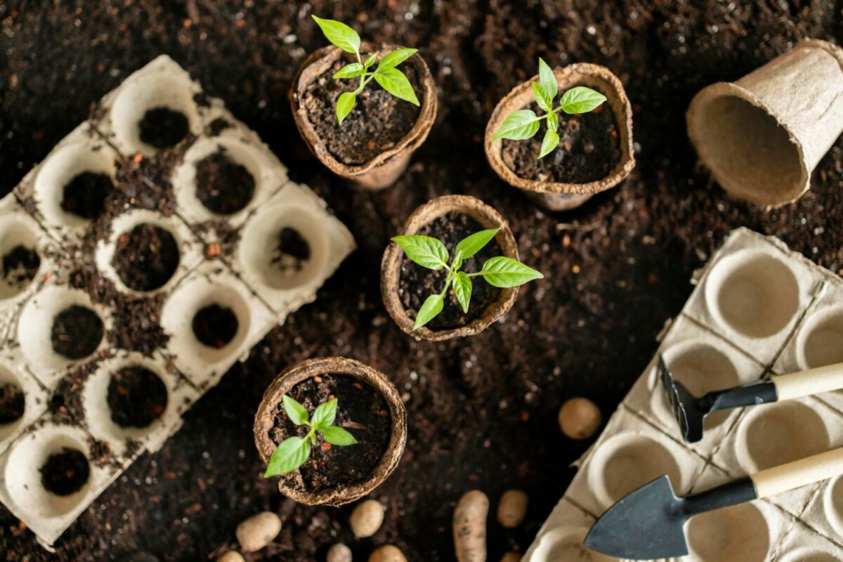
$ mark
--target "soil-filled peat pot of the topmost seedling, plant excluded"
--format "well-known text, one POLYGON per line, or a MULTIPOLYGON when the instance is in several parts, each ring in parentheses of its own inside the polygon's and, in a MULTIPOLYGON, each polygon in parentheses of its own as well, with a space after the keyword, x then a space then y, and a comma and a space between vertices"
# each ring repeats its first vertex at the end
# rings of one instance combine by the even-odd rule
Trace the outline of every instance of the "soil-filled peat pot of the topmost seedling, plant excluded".
MULTIPOLYGON (((398 47, 363 43, 361 53, 368 56, 375 48, 379 56, 384 56, 398 47)), ((400 70, 416 90, 419 107, 369 83, 357 96, 352 112, 339 124, 336 99, 356 88, 359 81, 332 77, 353 62, 352 58, 333 45, 314 51, 293 79, 290 103, 298 131, 316 158, 335 174, 363 188, 380 190, 395 183, 413 151, 427 138, 436 119, 436 85, 424 59, 416 53, 400 70), (377 120, 368 115, 374 112, 378 113, 377 120)))

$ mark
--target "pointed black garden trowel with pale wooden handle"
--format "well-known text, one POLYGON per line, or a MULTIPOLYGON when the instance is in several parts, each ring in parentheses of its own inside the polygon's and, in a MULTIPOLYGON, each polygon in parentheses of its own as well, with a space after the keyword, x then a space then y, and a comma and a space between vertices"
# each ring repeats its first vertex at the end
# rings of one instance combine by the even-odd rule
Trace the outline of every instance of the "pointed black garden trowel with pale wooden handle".
POLYGON ((609 507, 591 527, 583 544, 622 559, 685 556, 688 543, 683 526, 690 517, 779 494, 837 474, 843 474, 843 447, 680 498, 664 474, 609 507))

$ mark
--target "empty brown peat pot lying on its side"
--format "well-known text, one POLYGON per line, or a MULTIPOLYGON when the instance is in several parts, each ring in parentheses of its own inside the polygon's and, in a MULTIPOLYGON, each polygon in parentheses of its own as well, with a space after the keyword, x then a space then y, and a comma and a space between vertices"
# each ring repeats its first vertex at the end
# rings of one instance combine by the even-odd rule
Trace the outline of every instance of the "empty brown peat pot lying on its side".
POLYGON ((730 194, 776 207, 810 187, 811 172, 843 131, 843 50, 804 40, 737 82, 703 88, 688 135, 730 194))

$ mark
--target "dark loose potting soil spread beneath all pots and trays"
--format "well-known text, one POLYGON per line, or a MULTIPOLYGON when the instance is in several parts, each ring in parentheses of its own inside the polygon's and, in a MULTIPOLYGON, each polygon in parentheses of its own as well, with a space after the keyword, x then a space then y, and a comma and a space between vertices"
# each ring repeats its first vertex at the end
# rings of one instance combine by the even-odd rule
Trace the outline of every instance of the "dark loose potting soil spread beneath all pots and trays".
MULTIPOLYGON (((697 167, 685 110, 701 88, 740 78, 801 38, 843 43, 841 9, 840 1, 715 0, 0 5, 0 193, 92 101, 167 53, 269 143, 293 180, 324 197, 359 245, 316 302, 273 329, 160 452, 139 458, 89 506, 56 554, 0 508, 0 559, 212 559, 236 548, 238 522, 269 509, 282 517, 282 533, 250 560, 312 562, 342 540, 355 559, 389 542, 414 562, 450 561, 454 502, 480 489, 494 510, 510 488, 529 494, 527 517, 505 530, 491 515, 490 559, 524 552, 574 474, 565 467, 590 444, 561 434, 560 405, 585 396, 604 416, 615 409, 656 350, 664 321, 689 297, 692 272, 729 231, 775 234, 840 270, 843 142, 819 163, 807 195, 765 211, 730 200, 697 167), (389 190, 350 190, 298 136, 287 91, 309 52, 326 45, 311 13, 352 24, 368 40, 419 47, 441 90, 436 125, 389 190), (483 153, 492 109, 534 75, 539 56, 553 67, 609 67, 633 104, 636 169, 625 184, 566 213, 534 206, 497 178, 483 153), (411 211, 451 193, 478 196, 500 211, 522 260, 545 279, 522 287, 505 321, 481 335, 416 341, 384 310, 380 260, 411 211), (255 409, 277 372, 333 355, 387 373, 408 410, 404 458, 373 492, 387 511, 370 539, 352 537, 352 506, 305 507, 282 497, 277 479, 262 478, 252 438, 255 409)), ((145 158, 139 165, 153 164, 145 158)), ((135 196, 160 201, 145 190, 135 196)))

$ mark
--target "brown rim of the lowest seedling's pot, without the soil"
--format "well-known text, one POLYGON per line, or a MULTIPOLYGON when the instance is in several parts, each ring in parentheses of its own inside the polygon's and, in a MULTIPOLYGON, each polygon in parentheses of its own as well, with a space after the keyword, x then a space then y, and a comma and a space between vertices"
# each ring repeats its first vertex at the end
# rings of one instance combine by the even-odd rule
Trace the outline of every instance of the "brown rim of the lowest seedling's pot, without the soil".
POLYGON ((273 418, 282 403, 284 394, 290 392, 293 387, 305 379, 329 373, 350 375, 377 389, 389 405, 389 415, 392 418, 392 435, 389 438, 389 447, 384 452, 384 457, 381 458, 371 476, 361 483, 338 485, 336 488, 321 492, 296 490, 287 485, 283 479, 278 483, 278 490, 281 490, 283 495, 308 506, 341 506, 367 495, 387 479, 389 474, 392 474, 392 471, 398 466, 407 441, 407 413, 404 402, 395 386, 389 382, 389 378, 384 373, 376 371, 360 361, 346 359, 345 357, 309 359, 293 367, 287 367, 275 377, 275 380, 266 388, 264 397, 260 401, 257 414, 255 414, 255 446, 264 463, 269 463, 272 452, 277 447, 277 443, 271 440, 269 432, 273 427, 273 418))

